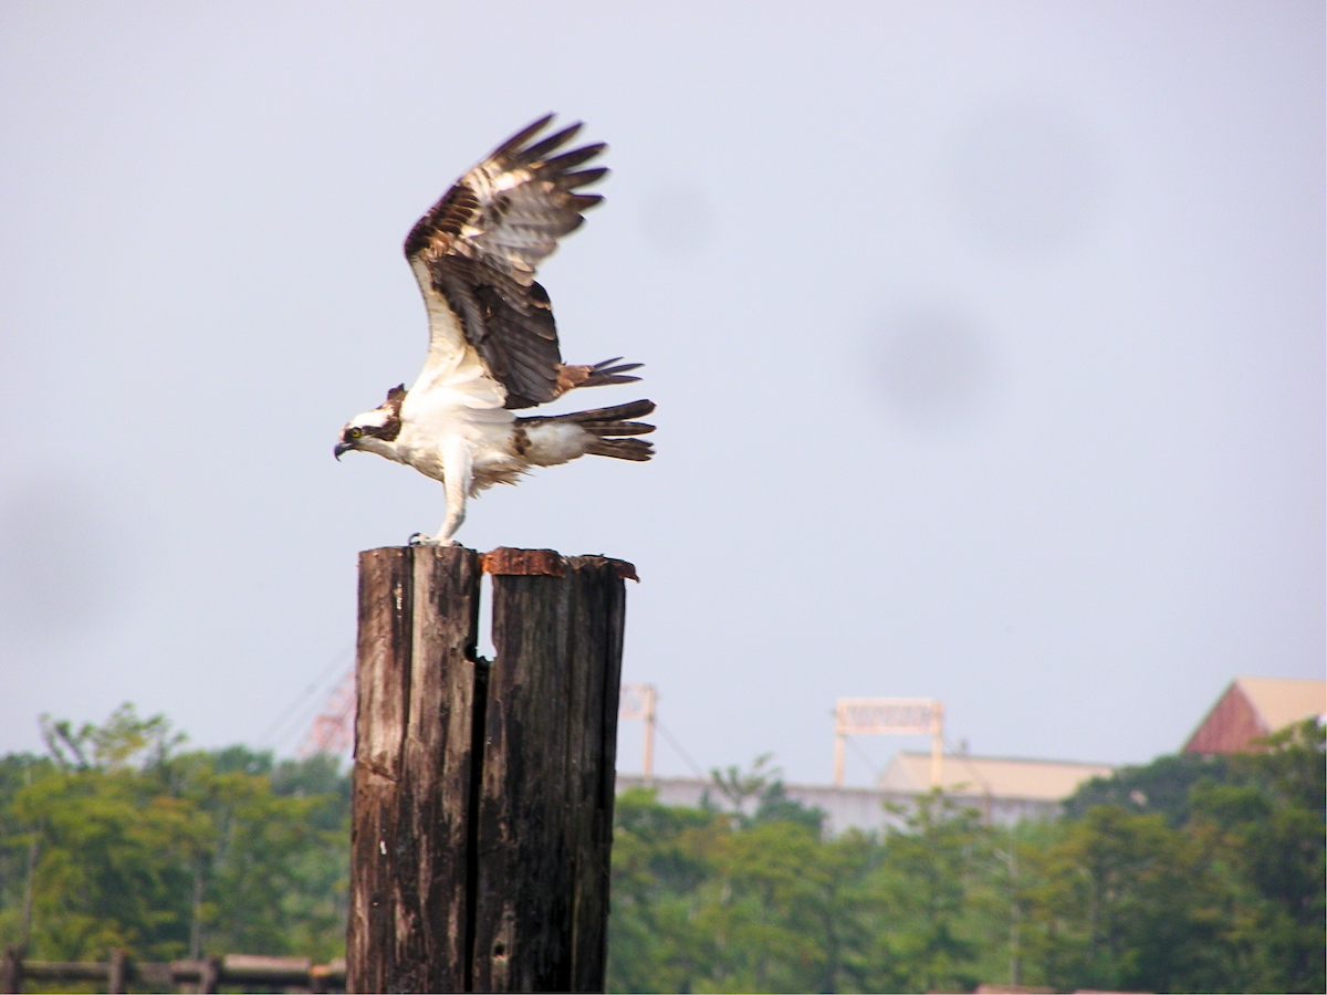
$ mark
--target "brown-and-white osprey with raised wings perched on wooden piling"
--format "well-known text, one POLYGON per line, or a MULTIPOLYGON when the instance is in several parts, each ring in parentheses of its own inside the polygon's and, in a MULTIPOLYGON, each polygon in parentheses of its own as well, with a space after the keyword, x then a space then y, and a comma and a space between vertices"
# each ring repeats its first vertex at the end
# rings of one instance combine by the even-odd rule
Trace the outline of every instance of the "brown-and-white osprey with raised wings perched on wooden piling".
POLYGON ((591 452, 646 460, 654 431, 633 421, 650 401, 575 414, 518 418, 576 387, 630 383, 640 364, 563 364, 557 328, 536 267, 557 239, 580 227, 581 211, 602 198, 583 187, 608 172, 577 170, 604 145, 555 155, 580 131, 572 125, 535 141, 553 115, 508 138, 462 176, 406 236, 405 252, 429 312, 429 356, 410 390, 387 391, 372 411, 341 430, 336 458, 350 450, 414 467, 441 480, 447 515, 437 536, 411 544, 450 545, 466 517, 466 498, 514 484, 531 467, 591 452))

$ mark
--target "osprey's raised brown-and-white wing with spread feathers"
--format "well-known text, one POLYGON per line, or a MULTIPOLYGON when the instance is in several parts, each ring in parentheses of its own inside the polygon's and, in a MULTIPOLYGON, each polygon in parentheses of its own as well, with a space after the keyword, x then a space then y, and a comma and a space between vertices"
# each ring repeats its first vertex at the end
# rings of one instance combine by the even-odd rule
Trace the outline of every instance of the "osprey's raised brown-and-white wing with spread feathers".
POLYGON ((608 170, 577 170, 604 145, 553 155, 580 125, 533 141, 540 118, 456 180, 406 236, 406 259, 429 309, 425 370, 472 348, 507 391, 507 407, 557 395, 557 326, 535 269, 557 239, 580 227, 602 198, 577 192, 608 170))

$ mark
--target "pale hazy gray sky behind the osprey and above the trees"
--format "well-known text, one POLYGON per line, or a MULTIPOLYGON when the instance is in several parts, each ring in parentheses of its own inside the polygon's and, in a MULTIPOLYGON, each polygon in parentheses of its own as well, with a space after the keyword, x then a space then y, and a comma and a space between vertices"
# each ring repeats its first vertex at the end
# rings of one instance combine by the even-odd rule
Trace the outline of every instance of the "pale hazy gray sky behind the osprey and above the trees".
POLYGON ((5 4, 0 750, 122 700, 295 748, 357 551, 442 519, 332 459, 423 360, 401 241, 549 110, 613 168, 541 272, 564 356, 648 365, 589 406, 657 401, 658 456, 460 539, 636 563, 625 678, 698 764, 825 781, 864 695, 1141 762, 1238 674, 1320 677, 1323 34, 1267 0, 5 4))

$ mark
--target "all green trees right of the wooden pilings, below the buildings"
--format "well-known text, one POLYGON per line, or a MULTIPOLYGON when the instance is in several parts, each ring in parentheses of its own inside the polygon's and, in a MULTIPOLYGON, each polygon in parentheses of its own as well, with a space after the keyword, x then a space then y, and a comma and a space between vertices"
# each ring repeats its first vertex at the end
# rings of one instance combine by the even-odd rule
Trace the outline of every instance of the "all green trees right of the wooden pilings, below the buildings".
POLYGON ((609 990, 1322 991, 1323 754, 1310 722, 1263 752, 1127 768, 1058 823, 991 827, 933 796, 833 838, 768 756, 714 772, 722 808, 636 789, 609 990))

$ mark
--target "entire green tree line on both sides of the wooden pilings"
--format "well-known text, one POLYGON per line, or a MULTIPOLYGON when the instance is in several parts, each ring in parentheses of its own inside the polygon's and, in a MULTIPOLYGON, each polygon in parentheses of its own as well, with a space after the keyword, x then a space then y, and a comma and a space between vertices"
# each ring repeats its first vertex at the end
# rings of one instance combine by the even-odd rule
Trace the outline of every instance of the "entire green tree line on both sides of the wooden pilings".
MULTIPOLYGON (((50 961, 344 954, 349 777, 161 716, 0 758, 0 945, 50 961)), ((1166 756, 995 827, 922 797, 824 832, 768 758, 698 808, 617 799, 610 991, 1323 991, 1323 731, 1166 756)))

